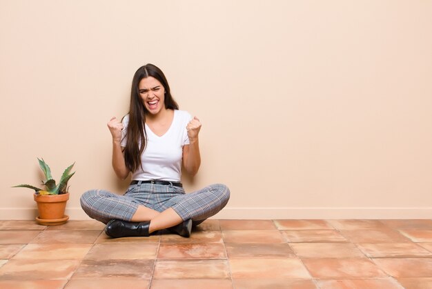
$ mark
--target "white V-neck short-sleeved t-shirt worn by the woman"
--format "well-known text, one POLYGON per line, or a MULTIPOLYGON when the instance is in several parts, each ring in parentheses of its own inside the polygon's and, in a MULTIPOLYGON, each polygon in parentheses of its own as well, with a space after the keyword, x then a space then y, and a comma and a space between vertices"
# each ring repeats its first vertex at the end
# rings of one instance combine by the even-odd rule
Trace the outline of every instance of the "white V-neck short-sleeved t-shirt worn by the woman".
MULTIPOLYGON (((181 179, 181 158, 183 146, 189 144, 186 126, 192 116, 184 110, 174 110, 173 123, 161 137, 158 137, 145 124, 147 143, 141 155, 142 168, 132 173, 132 179, 147 181, 150 179, 175 181, 181 179)), ((126 146, 129 114, 123 121, 124 129, 121 132, 121 146, 126 146)), ((139 143, 140 144, 140 143, 139 143)))

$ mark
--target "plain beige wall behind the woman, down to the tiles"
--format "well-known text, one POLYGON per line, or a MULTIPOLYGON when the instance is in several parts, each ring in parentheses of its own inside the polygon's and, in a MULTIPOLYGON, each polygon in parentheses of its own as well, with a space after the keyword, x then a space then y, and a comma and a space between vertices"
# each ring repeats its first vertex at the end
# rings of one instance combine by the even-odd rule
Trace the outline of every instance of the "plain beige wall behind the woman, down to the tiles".
POLYGON ((432 1, 0 0, 0 219, 32 219, 37 157, 76 161, 68 215, 121 192, 106 122, 154 63, 203 123, 217 218, 432 217, 432 1))

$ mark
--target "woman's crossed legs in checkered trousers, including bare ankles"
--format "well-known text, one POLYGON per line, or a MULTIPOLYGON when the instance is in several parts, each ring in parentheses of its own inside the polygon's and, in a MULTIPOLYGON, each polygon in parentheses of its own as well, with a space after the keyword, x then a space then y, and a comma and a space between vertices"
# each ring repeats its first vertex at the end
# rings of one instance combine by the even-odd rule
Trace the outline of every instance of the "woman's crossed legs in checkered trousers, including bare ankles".
MULTIPOLYGON (((132 194, 133 195, 133 194, 132 194)), ((154 195, 150 195, 154 198, 154 195)), ((106 190, 90 190, 81 196, 81 207, 92 219, 108 223, 112 219, 128 222, 148 222, 148 233, 172 228, 193 219, 200 223, 222 210, 230 197, 229 189, 222 184, 208 186, 190 194, 178 194, 158 206, 148 208, 141 195, 130 197, 106 190)), ((194 223, 195 223, 194 222, 194 223)))

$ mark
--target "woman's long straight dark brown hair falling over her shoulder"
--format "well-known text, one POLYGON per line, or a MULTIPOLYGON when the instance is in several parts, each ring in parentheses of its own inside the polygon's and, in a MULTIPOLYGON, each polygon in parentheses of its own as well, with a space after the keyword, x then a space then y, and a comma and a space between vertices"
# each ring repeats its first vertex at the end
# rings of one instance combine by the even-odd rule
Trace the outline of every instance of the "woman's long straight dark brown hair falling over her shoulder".
POLYGON ((164 72, 154 66, 153 64, 146 64, 138 68, 137 72, 132 79, 132 89, 130 91, 130 107, 129 107, 129 124, 128 130, 126 131, 126 147, 124 148, 124 160, 126 167, 131 171, 135 172, 141 166, 141 155, 144 152, 147 144, 147 132, 146 126, 146 114, 148 110, 144 103, 139 97, 139 81, 147 77, 155 77, 165 89, 165 108, 172 110, 178 110, 179 106, 173 99, 170 92, 170 86, 164 75, 164 72), (139 142, 141 141, 141 145, 139 142))

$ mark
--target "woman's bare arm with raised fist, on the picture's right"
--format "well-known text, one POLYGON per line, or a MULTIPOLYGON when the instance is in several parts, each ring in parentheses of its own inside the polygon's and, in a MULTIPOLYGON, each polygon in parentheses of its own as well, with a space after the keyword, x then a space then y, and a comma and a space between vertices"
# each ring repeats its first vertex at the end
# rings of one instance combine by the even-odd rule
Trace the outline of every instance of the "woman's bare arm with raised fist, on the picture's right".
POLYGON ((194 176, 201 166, 201 155, 199 155, 198 134, 201 129, 201 123, 197 117, 189 121, 186 130, 188 130, 189 144, 183 147, 183 164, 186 172, 194 176))

